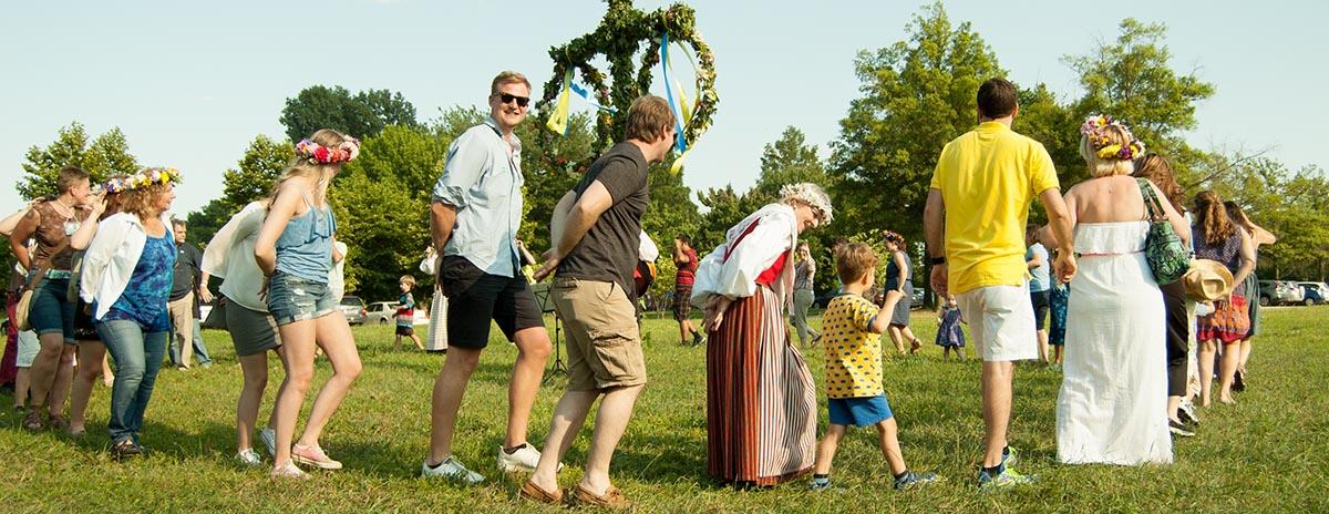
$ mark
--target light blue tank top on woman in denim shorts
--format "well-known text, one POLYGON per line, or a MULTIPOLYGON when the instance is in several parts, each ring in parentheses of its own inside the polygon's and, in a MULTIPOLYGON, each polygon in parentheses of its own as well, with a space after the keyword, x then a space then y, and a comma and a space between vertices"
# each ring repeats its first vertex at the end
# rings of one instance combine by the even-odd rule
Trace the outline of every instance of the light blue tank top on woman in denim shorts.
POLYGON ((282 236, 276 238, 276 271, 319 283, 328 282, 332 270, 332 232, 336 231, 336 216, 332 209, 319 210, 310 202, 310 210, 286 223, 282 236))

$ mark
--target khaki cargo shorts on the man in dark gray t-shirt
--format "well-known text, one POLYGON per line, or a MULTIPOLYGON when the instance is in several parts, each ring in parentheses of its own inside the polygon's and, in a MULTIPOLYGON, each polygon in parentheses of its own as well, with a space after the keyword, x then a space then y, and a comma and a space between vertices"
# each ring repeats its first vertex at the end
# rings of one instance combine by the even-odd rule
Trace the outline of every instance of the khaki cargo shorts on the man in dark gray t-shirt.
POLYGON ((567 389, 646 384, 637 308, 613 282, 556 279, 554 308, 567 328, 567 389))

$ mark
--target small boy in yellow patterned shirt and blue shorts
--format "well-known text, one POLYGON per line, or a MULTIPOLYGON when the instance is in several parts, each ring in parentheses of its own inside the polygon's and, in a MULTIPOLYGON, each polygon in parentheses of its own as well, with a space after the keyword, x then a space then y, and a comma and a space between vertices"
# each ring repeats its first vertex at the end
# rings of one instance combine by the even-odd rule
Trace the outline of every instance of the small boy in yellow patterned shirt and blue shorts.
POLYGON ((890 313, 904 295, 886 292, 881 308, 863 298, 872 288, 877 268, 877 255, 867 244, 849 243, 836 252, 835 260, 844 288, 827 305, 821 332, 831 426, 817 444, 812 490, 831 487, 831 461, 849 425, 877 428, 878 446, 894 475, 896 489, 934 482, 934 473, 913 473, 905 466, 896 418, 881 386, 881 332, 890 324, 890 313))

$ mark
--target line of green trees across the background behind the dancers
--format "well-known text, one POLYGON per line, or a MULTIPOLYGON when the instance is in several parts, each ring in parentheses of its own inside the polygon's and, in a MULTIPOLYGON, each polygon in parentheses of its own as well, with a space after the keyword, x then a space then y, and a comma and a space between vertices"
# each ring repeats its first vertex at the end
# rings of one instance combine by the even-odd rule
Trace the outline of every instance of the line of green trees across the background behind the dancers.
MULTIPOLYGON (((760 175, 743 191, 726 186, 694 195, 682 175, 668 171, 671 162, 651 167, 651 205, 643 224, 663 256, 655 292, 672 288, 675 270, 667 255, 675 235, 690 235, 699 252, 706 252, 730 226, 775 201, 780 186, 791 182, 819 183, 835 202, 836 222, 808 236, 824 270, 819 291, 835 283, 825 251, 835 238, 880 246, 878 234, 893 230, 910 242, 922 240, 924 199, 942 146, 974 126, 978 85, 1009 72, 971 25, 953 24, 940 3, 914 15, 906 32, 902 41, 859 52, 860 96, 840 120, 840 135, 828 142, 827 158, 789 126, 756 157, 760 175)), ((1126 121, 1150 151, 1171 161, 1188 194, 1212 189, 1235 199, 1280 238, 1260 252, 1261 278, 1322 280, 1329 258, 1324 170, 1292 170, 1265 151, 1191 145, 1185 133, 1196 128, 1196 109, 1216 88, 1193 72, 1172 68, 1166 36, 1163 24, 1126 19, 1114 40, 1065 56, 1062 62, 1079 77, 1079 96, 1062 98, 1045 84, 1021 84, 1015 130, 1047 147, 1066 190, 1088 175, 1078 150, 1080 122, 1092 113, 1110 113, 1126 121)), ((225 171, 221 195, 187 214, 190 239, 206 243, 231 214, 266 197, 292 155, 292 141, 319 128, 338 129, 363 141, 360 158, 344 166, 330 194, 339 239, 352 248, 347 284, 368 299, 395 298, 397 276, 415 271, 428 244, 427 207, 448 145, 484 117, 477 108, 457 106, 419 121, 415 106, 396 92, 306 88, 287 98, 279 113, 286 139, 256 135, 225 171)), ((566 135, 534 122, 517 129, 526 178, 520 236, 534 250, 549 247, 554 203, 579 179, 571 163, 598 147, 593 124, 589 114, 575 114, 566 135)), ((20 195, 53 193, 56 173, 68 163, 82 166, 94 181, 138 167, 120 129, 89 137, 73 122, 51 145, 28 151, 25 175, 16 186, 20 195)), ((1035 206, 1031 218, 1037 220, 1041 213, 1035 206)), ((913 244, 913 256, 916 263, 922 260, 921 246, 913 244)), ((918 276, 925 276, 922 271, 921 266, 916 270, 918 276)), ((421 279, 425 287, 432 284, 421 279)))

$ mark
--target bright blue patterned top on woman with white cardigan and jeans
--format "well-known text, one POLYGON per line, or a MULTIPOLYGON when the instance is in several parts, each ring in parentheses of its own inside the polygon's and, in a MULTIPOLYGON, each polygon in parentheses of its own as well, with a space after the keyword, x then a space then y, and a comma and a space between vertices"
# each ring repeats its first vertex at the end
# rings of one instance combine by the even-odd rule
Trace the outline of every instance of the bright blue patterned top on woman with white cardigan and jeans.
POLYGON ((125 292, 110 305, 102 317, 109 320, 129 320, 138 323, 144 332, 170 331, 170 313, 166 300, 175 282, 175 240, 170 232, 162 238, 149 236, 144 243, 144 254, 134 264, 125 292))

